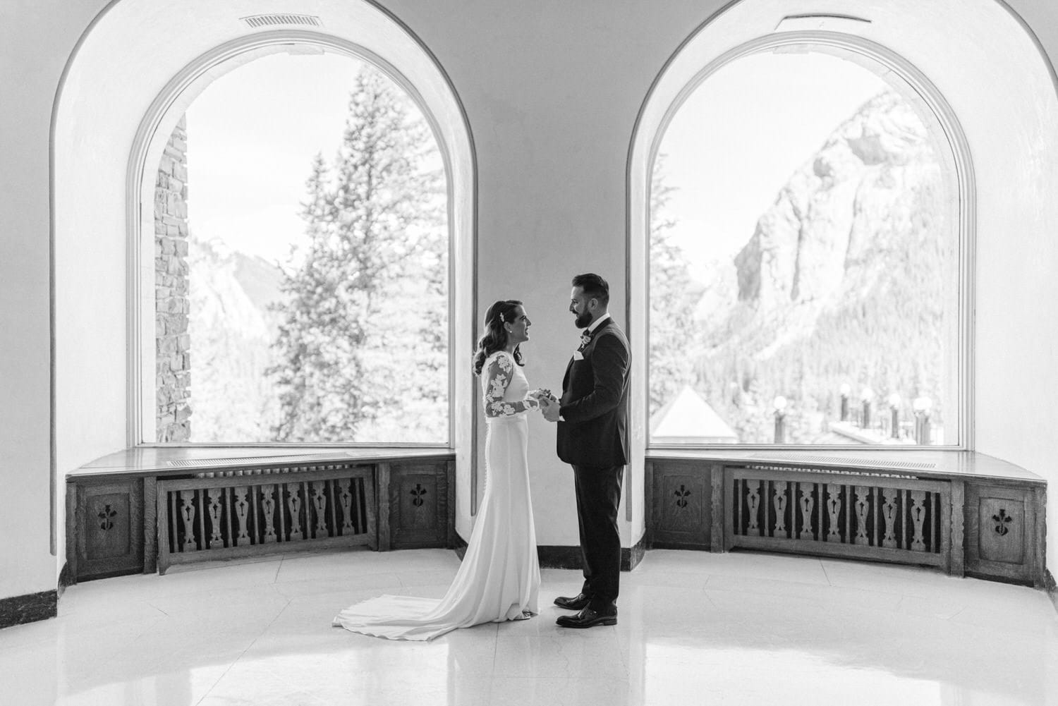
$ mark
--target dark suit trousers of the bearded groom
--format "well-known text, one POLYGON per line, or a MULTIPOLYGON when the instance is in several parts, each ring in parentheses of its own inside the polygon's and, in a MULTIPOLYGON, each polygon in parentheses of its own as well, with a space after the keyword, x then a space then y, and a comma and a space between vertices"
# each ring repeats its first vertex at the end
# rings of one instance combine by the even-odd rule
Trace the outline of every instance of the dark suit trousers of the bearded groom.
POLYGON ((573 466, 577 489, 577 520, 581 532, 581 561, 584 586, 594 611, 613 613, 617 609, 621 575, 621 535, 617 509, 621 504, 624 466, 573 466))

